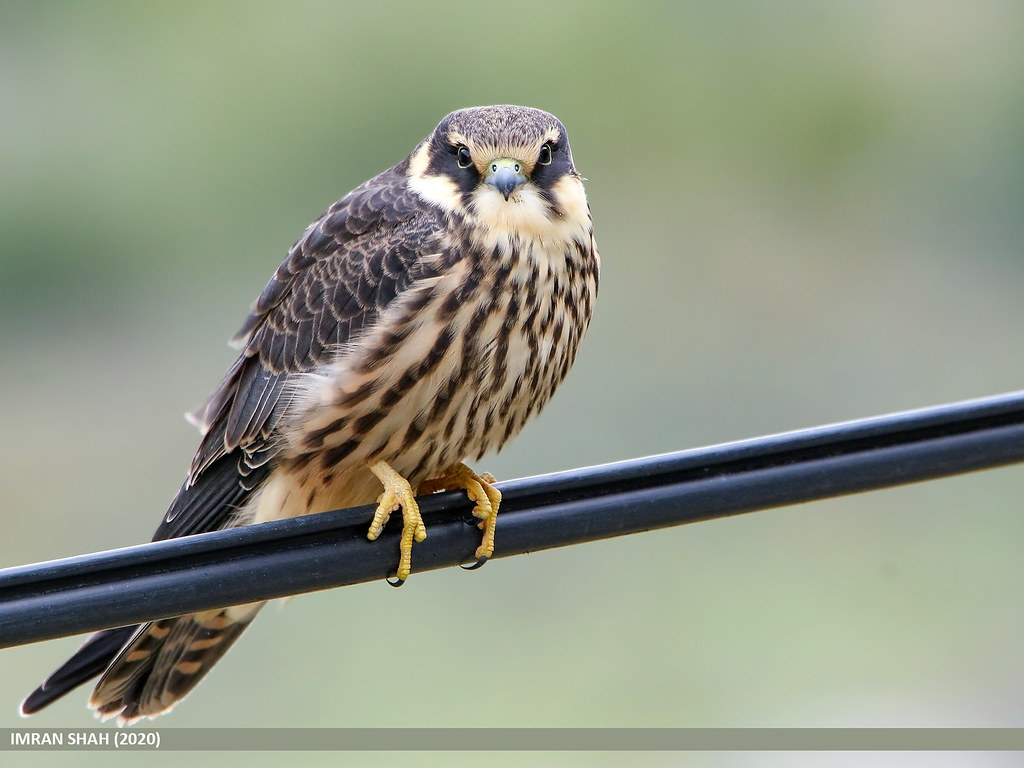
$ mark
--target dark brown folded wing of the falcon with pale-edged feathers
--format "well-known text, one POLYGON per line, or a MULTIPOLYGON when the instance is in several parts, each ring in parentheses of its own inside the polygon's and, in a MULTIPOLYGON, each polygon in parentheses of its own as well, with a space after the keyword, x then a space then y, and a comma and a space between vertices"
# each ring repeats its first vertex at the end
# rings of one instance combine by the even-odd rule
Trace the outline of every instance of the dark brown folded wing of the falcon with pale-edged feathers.
POLYGON ((203 432, 157 537, 222 527, 268 472, 289 380, 329 364, 416 282, 430 276, 442 214, 411 194, 404 163, 335 203, 274 272, 232 343, 242 353, 190 415, 203 432))

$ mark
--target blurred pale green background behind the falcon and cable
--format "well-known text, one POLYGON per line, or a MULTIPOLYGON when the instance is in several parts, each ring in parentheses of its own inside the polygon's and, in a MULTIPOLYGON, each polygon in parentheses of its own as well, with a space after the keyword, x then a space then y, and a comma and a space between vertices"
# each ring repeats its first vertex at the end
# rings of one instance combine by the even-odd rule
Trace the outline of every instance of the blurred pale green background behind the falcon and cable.
MULTIPOLYGON (((568 127, 603 256, 499 477, 1022 386, 1020 3, 3 2, 0 565, 146 541, 289 245, 494 102, 568 127)), ((1020 725, 1022 495, 1009 468, 300 597, 155 725, 1020 725)), ((15 714, 79 642, 0 653, 0 727, 93 724, 84 689, 15 714)), ((523 758, 624 760, 415 762, 523 758)))

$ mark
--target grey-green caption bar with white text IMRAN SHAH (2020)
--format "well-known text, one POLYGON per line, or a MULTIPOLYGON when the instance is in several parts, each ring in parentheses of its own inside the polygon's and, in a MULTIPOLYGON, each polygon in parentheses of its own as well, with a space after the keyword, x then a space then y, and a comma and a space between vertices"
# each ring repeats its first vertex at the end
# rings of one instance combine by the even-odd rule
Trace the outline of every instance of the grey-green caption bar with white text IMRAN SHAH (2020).
POLYGON ((35 728, 0 750, 331 752, 1024 751, 1024 728, 35 728))

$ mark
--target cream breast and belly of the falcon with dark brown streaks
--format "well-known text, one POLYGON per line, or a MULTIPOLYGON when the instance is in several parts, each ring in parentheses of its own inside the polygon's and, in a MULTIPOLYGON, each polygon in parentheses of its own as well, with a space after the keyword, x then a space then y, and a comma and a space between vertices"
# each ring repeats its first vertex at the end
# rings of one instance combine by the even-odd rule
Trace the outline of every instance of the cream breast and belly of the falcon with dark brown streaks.
POLYGON ((286 456, 327 473, 384 460, 415 486, 500 449, 550 399, 597 291, 589 226, 569 242, 451 252, 464 255, 302 377, 286 456))

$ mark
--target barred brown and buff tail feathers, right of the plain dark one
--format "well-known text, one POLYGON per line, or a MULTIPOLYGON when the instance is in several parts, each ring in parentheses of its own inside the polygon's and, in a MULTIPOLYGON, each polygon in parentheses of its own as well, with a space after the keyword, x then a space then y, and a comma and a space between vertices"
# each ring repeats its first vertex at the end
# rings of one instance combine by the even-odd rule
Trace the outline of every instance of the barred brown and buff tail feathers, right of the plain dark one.
POLYGON ((163 618, 138 628, 89 699, 103 720, 127 725, 168 712, 220 659, 264 603, 163 618))

